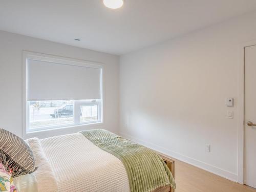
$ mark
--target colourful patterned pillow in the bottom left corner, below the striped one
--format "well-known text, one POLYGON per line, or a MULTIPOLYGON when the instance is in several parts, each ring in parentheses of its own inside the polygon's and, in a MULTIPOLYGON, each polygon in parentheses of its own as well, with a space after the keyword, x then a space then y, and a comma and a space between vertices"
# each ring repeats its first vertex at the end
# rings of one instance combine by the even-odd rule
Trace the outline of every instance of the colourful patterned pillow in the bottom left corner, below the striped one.
POLYGON ((4 165, 0 163, 0 191, 3 192, 18 192, 11 175, 6 172, 4 165))

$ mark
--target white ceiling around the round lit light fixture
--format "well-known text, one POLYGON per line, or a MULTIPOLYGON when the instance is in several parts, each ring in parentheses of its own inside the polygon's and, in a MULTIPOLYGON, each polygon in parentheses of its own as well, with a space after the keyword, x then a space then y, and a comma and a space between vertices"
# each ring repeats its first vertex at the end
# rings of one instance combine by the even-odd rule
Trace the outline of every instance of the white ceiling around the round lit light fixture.
POLYGON ((1 0, 0 30, 120 55, 253 10, 255 0, 1 0))

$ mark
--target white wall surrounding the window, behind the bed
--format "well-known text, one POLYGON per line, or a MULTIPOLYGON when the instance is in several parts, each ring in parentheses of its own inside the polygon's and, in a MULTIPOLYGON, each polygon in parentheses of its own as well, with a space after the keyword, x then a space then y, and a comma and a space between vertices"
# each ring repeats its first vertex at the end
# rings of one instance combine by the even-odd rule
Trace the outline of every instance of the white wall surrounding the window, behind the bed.
POLYGON ((0 31, 0 127, 22 136, 23 50, 105 63, 104 125, 46 132, 40 138, 74 133, 89 128, 103 128, 117 132, 119 126, 119 56, 4 31, 0 31))

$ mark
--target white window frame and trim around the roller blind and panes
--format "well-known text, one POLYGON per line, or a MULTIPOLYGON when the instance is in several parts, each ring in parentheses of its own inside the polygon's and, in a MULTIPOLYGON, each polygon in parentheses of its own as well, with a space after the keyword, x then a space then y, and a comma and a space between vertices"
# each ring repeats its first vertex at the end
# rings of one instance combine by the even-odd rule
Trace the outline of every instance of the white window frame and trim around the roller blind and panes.
MULTIPOLYGON (((41 54, 29 51, 23 51, 23 65, 22 65, 22 78, 23 78, 23 138, 29 137, 40 137, 42 135, 51 135, 49 132, 56 132, 66 134, 67 132, 77 132, 79 130, 86 129, 87 127, 99 126, 103 125, 104 123, 104 63, 100 62, 93 62, 87 60, 80 60, 80 59, 73 59, 68 57, 60 57, 48 54, 41 54), (82 66, 82 67, 91 67, 101 69, 101 99, 99 100, 73 100, 73 123, 68 124, 61 124, 61 125, 52 125, 52 126, 42 126, 42 127, 35 127, 30 129, 29 128, 29 102, 27 100, 27 60, 28 59, 35 59, 35 60, 42 60, 47 62, 57 62, 66 65, 73 65, 73 66, 82 66), (80 123, 80 110, 76 110, 79 104, 85 105, 92 105, 98 104, 98 119, 96 121, 88 121, 80 123), (77 113, 77 114, 75 114, 77 113), (78 115, 79 114, 79 115, 78 115), (55 130, 55 131, 54 131, 55 130), (48 132, 48 133, 45 133, 48 132)), ((74 85, 75 86, 75 85, 74 85)), ((60 99, 61 100, 61 99, 60 99)))

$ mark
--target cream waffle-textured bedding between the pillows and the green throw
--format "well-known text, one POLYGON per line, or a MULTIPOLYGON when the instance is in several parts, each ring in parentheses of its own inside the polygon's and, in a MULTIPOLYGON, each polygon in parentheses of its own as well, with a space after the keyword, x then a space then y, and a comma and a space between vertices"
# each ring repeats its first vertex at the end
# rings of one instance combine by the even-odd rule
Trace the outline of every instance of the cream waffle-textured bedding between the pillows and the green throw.
MULTIPOLYGON (((130 191, 129 180, 122 162, 112 154, 95 146, 82 134, 63 135, 38 141, 43 152, 41 155, 46 157, 46 159, 41 159, 46 161, 46 164, 49 163, 54 174, 54 179, 50 179, 51 181, 47 180, 51 173, 44 174, 44 182, 49 181, 48 185, 52 185, 54 188, 54 190, 44 190, 45 192, 130 191), (57 189, 54 187, 54 183, 57 189)), ((31 148, 33 151, 33 146, 31 148)), ((38 174, 42 176, 41 170, 39 167, 33 174, 22 176, 22 179, 18 177, 19 181, 15 180, 15 184, 20 184, 20 180, 23 183, 26 180, 30 181, 27 189, 21 188, 19 191, 41 192, 41 185, 46 184, 37 181, 38 174)))

